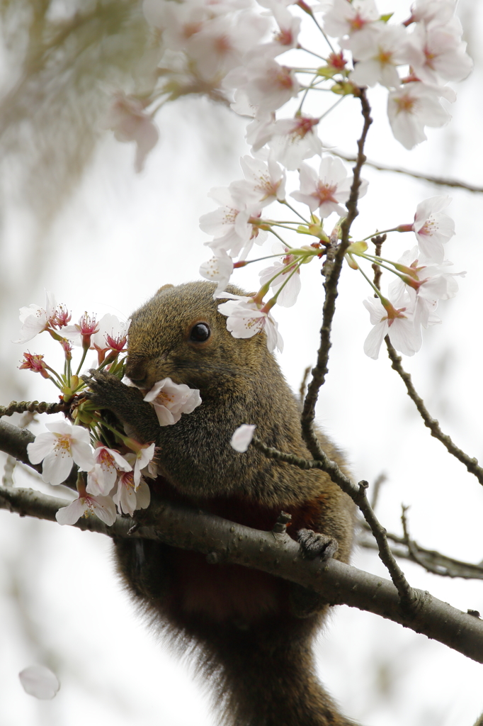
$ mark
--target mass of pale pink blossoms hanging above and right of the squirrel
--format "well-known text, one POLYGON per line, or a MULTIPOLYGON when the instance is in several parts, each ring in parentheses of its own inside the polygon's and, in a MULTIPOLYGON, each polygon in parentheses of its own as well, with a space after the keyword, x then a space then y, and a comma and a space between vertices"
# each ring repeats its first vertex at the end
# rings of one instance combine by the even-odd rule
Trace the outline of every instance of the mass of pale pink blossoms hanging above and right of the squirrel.
MULTIPOLYGON (((264 330, 268 347, 281 349, 273 306, 295 303, 301 266, 324 258, 328 246, 337 245, 347 215, 352 176, 342 160, 326 151, 319 135, 323 118, 344 97, 360 97, 361 89, 380 84, 387 89, 392 132, 405 148, 426 139, 426 126, 445 125, 450 120, 446 106, 455 101, 447 82, 466 78, 472 67, 455 0, 416 0, 403 23, 395 23, 392 14, 381 15, 374 0, 311 5, 305 0, 144 0, 143 8, 157 41, 156 81, 149 93, 117 94, 110 127, 117 139, 136 141, 140 169, 157 142, 154 114, 167 101, 186 93, 215 100, 228 94, 234 112, 248 118, 252 154, 241 159, 244 179, 212 189, 210 197, 219 207, 200 220, 212 236, 206 244, 213 255, 200 274, 215 281, 215 297, 226 300, 219 310, 232 335, 247 338, 264 330), (320 39, 310 48, 300 41, 304 23, 312 24, 320 39), (320 115, 309 115, 307 97, 313 102, 319 93, 320 99, 322 90, 337 100, 320 115), (287 171, 297 171, 299 177, 291 192, 286 186, 293 175, 287 177, 287 171), (272 203, 283 207, 280 220, 265 216, 272 203), (333 213, 339 219, 326 231, 323 221, 333 213), (289 242, 287 232, 312 239, 289 242), (260 272, 258 293, 252 298, 226 293, 234 268, 248 264, 252 246, 262 245, 268 234, 276 244, 262 258, 275 261, 260 272)), ((366 189, 363 181, 359 197, 366 189)), ((350 266, 365 277, 362 258, 396 275, 387 296, 374 288, 376 300, 364 303, 374 326, 365 345, 369 356, 378 356, 387 333, 398 350, 414 354, 421 347, 421 327, 440 322, 434 314, 437 301, 456 293, 455 275, 464 273, 447 272, 451 263, 442 247, 454 234, 444 211, 449 201, 426 200, 410 224, 384 230, 416 234, 417 246, 398 261, 367 253, 366 240, 377 229, 348 250, 350 266)))

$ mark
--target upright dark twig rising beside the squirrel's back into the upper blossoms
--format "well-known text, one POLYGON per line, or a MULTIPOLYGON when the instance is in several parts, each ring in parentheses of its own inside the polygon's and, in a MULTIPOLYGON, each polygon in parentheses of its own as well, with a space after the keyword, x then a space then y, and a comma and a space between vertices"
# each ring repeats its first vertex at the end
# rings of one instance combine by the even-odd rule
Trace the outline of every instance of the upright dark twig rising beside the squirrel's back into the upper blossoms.
POLYGON ((342 239, 338 246, 335 243, 327 248, 326 262, 323 267, 325 282, 323 287, 326 291, 326 297, 323 302, 323 317, 321 327, 321 346, 318 349, 317 363, 312 370, 312 380, 307 388, 307 396, 305 396, 304 406, 302 410, 302 435, 304 437, 307 448, 314 458, 321 457, 321 446, 318 442, 317 435, 313 428, 313 420, 315 418, 315 404, 318 399, 318 392, 326 380, 329 362, 329 350, 331 348, 331 327, 334 319, 335 302, 337 299, 337 285, 339 282, 344 255, 350 245, 350 227, 352 222, 358 216, 358 197, 359 187, 361 184, 360 171, 366 161, 364 155, 364 144, 369 127, 371 126, 371 107, 368 104, 366 91, 360 90, 360 103, 362 105, 362 114, 364 119, 363 131, 358 140, 358 155, 355 167, 353 168, 354 177, 352 186, 350 187, 350 197, 347 201, 347 217, 341 225, 342 239))

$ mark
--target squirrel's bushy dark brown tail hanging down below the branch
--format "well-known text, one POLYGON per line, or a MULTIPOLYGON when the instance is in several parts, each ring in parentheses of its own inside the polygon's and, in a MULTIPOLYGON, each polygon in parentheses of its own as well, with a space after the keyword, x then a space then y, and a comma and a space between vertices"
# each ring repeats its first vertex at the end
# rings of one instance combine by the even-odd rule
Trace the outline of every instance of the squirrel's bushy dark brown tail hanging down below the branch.
POLYGON ((202 669, 223 726, 355 726, 315 675, 308 620, 210 632, 202 669))

